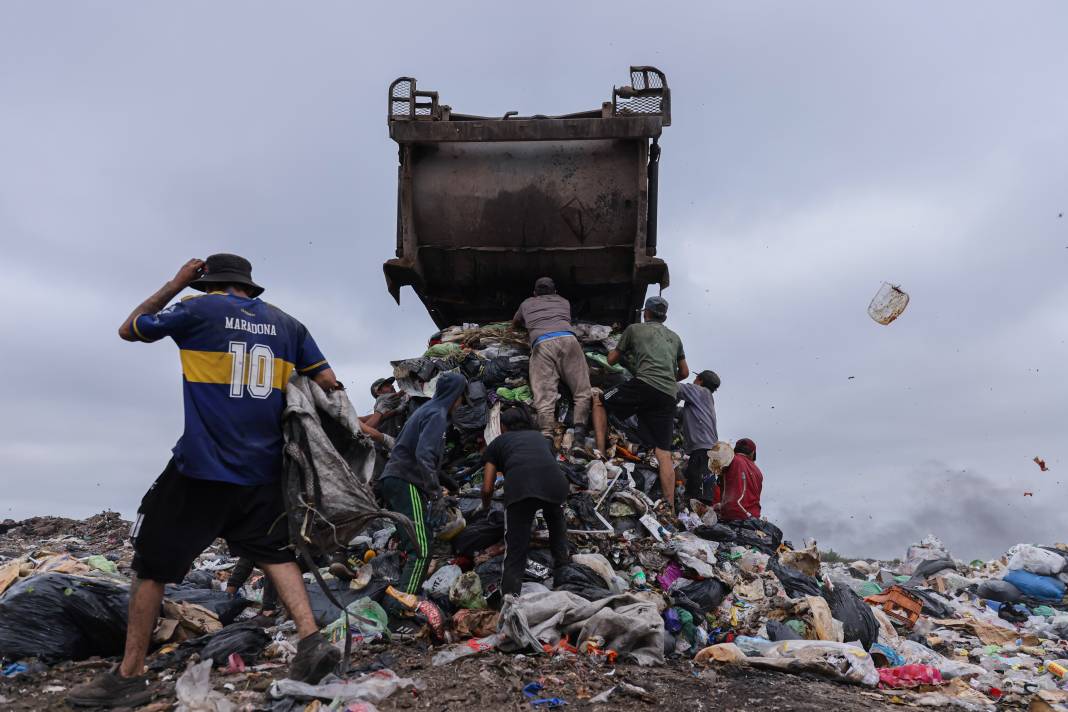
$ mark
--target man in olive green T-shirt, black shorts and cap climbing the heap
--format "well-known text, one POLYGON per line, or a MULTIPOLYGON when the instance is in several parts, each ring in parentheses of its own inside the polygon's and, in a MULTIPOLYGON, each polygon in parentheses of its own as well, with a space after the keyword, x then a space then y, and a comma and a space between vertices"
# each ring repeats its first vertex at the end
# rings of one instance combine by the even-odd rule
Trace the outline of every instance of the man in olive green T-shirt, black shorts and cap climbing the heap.
POLYGON ((597 449, 604 452, 608 420, 602 408, 619 420, 638 416, 642 440, 654 447, 660 468, 660 489, 668 505, 675 507, 675 468, 671 445, 675 434, 675 406, 678 404, 678 381, 690 375, 686 365, 682 339, 664 326, 668 300, 649 297, 645 300, 644 323, 632 323, 623 332, 619 343, 609 351, 608 363, 623 360, 634 378, 594 399, 594 428, 597 449), (603 404, 603 405, 602 405, 603 404))

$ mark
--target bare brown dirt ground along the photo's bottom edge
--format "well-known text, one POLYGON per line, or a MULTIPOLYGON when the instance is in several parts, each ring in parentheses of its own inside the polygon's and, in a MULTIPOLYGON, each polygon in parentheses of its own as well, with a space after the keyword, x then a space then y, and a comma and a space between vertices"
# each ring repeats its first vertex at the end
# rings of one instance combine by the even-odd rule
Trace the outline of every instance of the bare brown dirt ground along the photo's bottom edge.
MULTIPOLYGON (((373 646, 354 655, 355 667, 376 662, 390 662, 397 675, 419 679, 426 685, 421 692, 410 689, 398 691, 378 702, 377 707, 382 712, 529 711, 534 708, 523 695, 522 689, 530 682, 540 682, 544 686, 538 693, 539 697, 557 697, 566 701, 569 708, 607 710, 611 706, 624 706, 627 710, 635 711, 675 709, 687 712, 860 712, 900 709, 900 706, 891 705, 879 693, 827 682, 815 676, 769 673, 737 666, 712 668, 682 661, 671 662, 665 667, 641 668, 633 665, 595 665, 575 658, 547 660, 491 653, 434 667, 430 665, 429 652, 399 645, 373 646), (590 698, 618 682, 642 687, 647 695, 617 689, 608 705, 590 703, 590 698)), ((6 698, 0 709, 13 712, 65 709, 65 691, 95 675, 107 664, 106 661, 63 663, 47 673, 31 677, 0 678, 0 697, 6 698)), ((268 710, 270 701, 266 690, 272 679, 284 677, 284 671, 285 667, 279 667, 230 677, 214 675, 213 681, 216 690, 226 694, 235 705, 241 705, 241 709, 268 710), (233 685, 233 690, 227 685, 233 685)), ((163 680, 155 683, 158 692, 156 701, 139 709, 153 712, 171 709, 176 673, 164 673, 163 680)))

